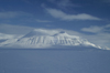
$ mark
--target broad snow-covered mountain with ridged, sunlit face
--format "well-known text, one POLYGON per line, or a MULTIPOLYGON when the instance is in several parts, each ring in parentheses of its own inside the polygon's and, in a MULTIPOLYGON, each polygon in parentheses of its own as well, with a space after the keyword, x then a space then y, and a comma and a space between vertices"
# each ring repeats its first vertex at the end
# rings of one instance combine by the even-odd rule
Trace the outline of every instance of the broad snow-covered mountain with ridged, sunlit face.
MULTIPOLYGON (((50 31, 51 32, 51 31, 50 31)), ((19 46, 19 48, 54 48, 54 46, 92 46, 101 49, 94 43, 88 42, 86 39, 81 39, 76 35, 69 35, 65 31, 59 32, 46 32, 40 30, 33 30, 30 33, 9 39, 2 43, 0 46, 19 46)))

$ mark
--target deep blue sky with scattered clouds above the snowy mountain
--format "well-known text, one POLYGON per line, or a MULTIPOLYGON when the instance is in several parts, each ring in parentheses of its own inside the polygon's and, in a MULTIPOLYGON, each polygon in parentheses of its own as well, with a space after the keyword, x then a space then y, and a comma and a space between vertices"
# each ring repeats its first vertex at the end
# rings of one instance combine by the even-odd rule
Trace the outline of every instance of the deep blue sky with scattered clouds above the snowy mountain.
POLYGON ((62 29, 110 46, 110 0, 0 0, 0 33, 62 29))

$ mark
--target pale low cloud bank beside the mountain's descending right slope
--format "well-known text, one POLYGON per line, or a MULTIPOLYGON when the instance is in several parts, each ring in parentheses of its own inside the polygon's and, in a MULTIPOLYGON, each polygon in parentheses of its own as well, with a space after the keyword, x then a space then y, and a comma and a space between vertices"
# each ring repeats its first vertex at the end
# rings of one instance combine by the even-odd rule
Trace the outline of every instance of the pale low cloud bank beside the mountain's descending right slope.
POLYGON ((108 46, 110 48, 110 33, 97 33, 97 34, 84 34, 81 35, 89 40, 90 42, 100 45, 100 46, 108 46))

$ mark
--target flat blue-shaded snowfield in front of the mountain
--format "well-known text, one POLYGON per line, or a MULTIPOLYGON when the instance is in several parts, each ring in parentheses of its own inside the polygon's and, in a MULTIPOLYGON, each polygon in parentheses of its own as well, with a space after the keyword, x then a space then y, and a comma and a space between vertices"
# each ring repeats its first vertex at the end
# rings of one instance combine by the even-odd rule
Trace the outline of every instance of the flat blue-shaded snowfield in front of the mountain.
POLYGON ((0 73, 110 73, 110 51, 0 49, 0 73))

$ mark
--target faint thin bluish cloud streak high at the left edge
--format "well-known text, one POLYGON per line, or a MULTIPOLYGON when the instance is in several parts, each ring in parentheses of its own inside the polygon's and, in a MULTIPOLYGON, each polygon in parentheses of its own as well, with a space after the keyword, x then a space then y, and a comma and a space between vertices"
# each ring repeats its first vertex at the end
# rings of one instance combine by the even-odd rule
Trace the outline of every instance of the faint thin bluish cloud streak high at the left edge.
POLYGON ((23 12, 23 11, 8 11, 8 12, 0 12, 0 19, 11 19, 18 17, 31 17, 32 14, 23 12))

